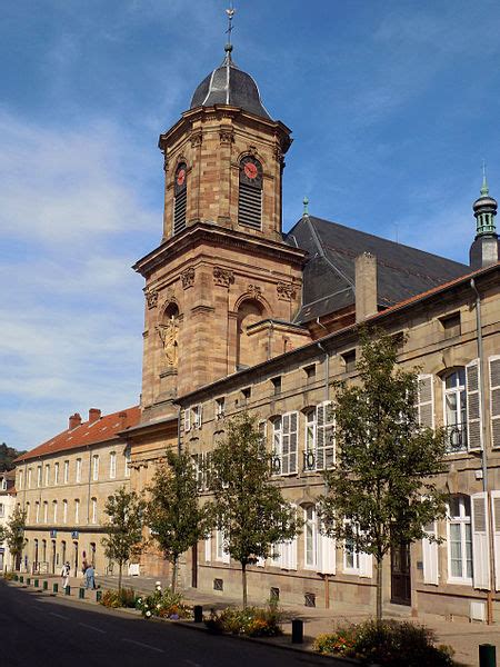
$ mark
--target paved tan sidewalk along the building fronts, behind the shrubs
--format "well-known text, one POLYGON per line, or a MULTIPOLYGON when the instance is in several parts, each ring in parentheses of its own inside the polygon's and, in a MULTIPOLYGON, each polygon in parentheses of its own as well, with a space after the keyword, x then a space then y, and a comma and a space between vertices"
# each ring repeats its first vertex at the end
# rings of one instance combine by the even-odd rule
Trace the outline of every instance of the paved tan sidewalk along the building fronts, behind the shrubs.
MULTIPOLYGON (((40 580, 49 580, 49 591, 52 590, 52 583, 59 583, 61 589, 60 577, 37 577, 40 580)), ((33 577, 32 577, 33 579, 33 577)), ((24 579, 26 580, 26 579, 24 579)), ((161 581, 162 587, 168 586, 169 581, 166 578, 159 577, 123 577, 123 586, 130 587, 138 594, 150 594, 154 590, 157 581, 161 581)), ((97 578, 97 585, 102 590, 118 587, 118 577, 103 576, 97 578)), ((81 577, 71 577, 70 586, 74 589, 74 595, 78 596, 78 588, 82 586, 81 577)), ((210 609, 222 609, 228 605, 240 605, 239 598, 230 597, 226 594, 201 593, 196 589, 187 589, 182 591, 188 604, 201 605, 203 611, 210 609)), ((92 596, 93 597, 93 596, 92 596)), ((262 600, 249 600, 250 605, 261 606, 262 600)), ((370 615, 360 607, 347 604, 334 604, 331 609, 317 609, 299 605, 282 604, 280 605, 286 615, 283 629, 287 635, 291 635, 291 619, 300 618, 304 621, 306 641, 310 643, 314 637, 322 633, 331 631, 337 625, 342 623, 360 621, 368 618, 370 615)), ((497 660, 500 667, 500 627, 498 625, 487 626, 484 624, 471 624, 464 621, 448 621, 441 617, 427 614, 419 618, 411 618, 409 609, 396 605, 389 605, 384 609, 386 617, 399 618, 400 620, 409 620, 426 625, 433 629, 438 637, 439 644, 448 644, 453 647, 456 654, 454 659, 469 667, 478 667, 478 646, 480 644, 493 644, 497 646, 497 660)), ((289 641, 289 640, 288 640, 289 641)), ((424 667, 424 666, 422 666, 424 667)))

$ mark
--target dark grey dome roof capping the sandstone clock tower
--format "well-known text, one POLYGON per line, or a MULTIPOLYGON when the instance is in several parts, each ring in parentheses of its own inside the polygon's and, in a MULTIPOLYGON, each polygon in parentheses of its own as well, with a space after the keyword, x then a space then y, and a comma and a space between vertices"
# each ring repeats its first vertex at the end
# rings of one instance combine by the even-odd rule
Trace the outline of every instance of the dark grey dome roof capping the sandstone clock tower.
POLYGON ((271 120, 260 99, 256 81, 240 70, 231 59, 232 46, 226 47, 226 58, 220 67, 206 77, 194 91, 190 109, 231 104, 271 120))

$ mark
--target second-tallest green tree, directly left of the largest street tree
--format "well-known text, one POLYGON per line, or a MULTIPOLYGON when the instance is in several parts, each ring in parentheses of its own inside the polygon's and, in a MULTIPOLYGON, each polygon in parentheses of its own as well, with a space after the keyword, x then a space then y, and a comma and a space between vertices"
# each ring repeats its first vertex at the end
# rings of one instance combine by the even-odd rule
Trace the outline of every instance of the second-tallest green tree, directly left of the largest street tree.
POLYGON ((241 564, 247 607, 247 566, 273 556, 274 545, 296 537, 300 526, 293 508, 271 481, 256 418, 243 412, 228 422, 212 462, 214 521, 224 536, 226 550, 241 564))

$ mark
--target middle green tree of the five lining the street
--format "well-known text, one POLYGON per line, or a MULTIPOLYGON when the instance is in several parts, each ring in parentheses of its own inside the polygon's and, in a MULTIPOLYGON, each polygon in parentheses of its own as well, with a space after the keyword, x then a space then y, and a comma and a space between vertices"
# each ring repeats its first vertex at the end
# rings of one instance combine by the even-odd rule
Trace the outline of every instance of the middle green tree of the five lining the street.
POLYGON ((199 502, 197 474, 187 452, 167 450, 148 488, 147 524, 164 558, 172 565, 172 590, 176 590, 179 557, 209 530, 208 512, 199 502))

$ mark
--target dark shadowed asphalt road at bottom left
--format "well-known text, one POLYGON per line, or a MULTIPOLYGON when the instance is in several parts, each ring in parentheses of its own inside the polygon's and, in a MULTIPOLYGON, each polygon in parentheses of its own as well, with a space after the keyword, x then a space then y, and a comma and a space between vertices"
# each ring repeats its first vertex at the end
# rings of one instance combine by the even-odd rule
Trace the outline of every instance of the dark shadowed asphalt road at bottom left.
POLYGON ((272 646, 54 598, 0 580, 0 664, 6 667, 340 666, 272 646))

